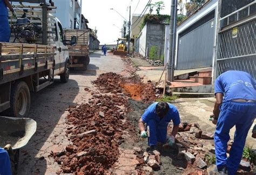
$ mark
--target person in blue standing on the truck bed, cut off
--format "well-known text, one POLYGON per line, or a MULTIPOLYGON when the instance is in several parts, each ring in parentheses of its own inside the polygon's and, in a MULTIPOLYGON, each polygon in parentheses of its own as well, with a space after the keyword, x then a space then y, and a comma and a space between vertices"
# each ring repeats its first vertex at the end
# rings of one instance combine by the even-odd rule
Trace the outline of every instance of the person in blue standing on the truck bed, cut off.
POLYGON ((8 10, 14 13, 11 4, 8 0, 0 0, 0 42, 9 42, 10 39, 10 27, 8 22, 8 10))

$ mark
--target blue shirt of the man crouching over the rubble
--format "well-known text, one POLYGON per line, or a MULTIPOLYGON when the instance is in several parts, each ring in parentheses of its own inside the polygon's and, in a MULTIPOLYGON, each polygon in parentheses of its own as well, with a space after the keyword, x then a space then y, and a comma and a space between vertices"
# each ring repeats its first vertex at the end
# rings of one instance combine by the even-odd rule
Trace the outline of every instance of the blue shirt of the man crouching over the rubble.
POLYGON ((170 103, 168 103, 168 105, 169 105, 168 113, 160 120, 160 117, 156 113, 157 103, 151 104, 146 109, 145 113, 142 115, 142 121, 147 123, 149 120, 154 120, 157 122, 158 127, 162 129, 165 129, 171 120, 174 125, 179 125, 180 117, 179 117, 178 109, 170 103))

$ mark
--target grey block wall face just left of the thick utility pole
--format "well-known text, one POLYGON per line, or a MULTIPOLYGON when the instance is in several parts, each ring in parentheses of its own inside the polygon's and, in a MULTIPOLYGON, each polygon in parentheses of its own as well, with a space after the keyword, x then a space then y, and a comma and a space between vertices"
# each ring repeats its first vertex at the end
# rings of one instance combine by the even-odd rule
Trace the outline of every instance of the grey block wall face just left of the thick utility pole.
POLYGON ((146 38, 146 49, 147 57, 149 57, 150 48, 152 46, 158 47, 158 58, 162 59, 164 57, 164 47, 165 47, 165 24, 151 24, 147 23, 147 38, 146 38))

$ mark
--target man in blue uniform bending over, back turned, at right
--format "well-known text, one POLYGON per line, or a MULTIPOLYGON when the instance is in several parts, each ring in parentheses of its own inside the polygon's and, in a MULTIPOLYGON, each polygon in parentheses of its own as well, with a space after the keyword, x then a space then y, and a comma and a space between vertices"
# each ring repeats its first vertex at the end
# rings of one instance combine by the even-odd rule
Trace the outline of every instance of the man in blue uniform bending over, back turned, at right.
POLYGON ((252 76, 227 68, 215 80, 213 114, 217 120, 214 134, 216 165, 219 174, 235 174, 238 170, 246 136, 256 116, 256 88, 252 76), (223 100, 224 96, 224 100, 223 100), (235 126, 234 142, 227 158, 230 129, 235 126))

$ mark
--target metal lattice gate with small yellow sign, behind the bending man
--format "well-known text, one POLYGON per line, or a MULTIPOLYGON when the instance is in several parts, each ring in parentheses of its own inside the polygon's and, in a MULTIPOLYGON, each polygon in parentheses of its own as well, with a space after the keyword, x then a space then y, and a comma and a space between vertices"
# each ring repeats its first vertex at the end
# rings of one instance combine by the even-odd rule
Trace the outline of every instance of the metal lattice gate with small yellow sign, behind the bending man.
POLYGON ((222 26, 229 25, 231 20, 239 23, 219 32, 217 76, 228 67, 248 72, 256 79, 255 7, 256 1, 220 19, 222 26), (239 20, 241 16, 250 17, 242 21, 239 20))

